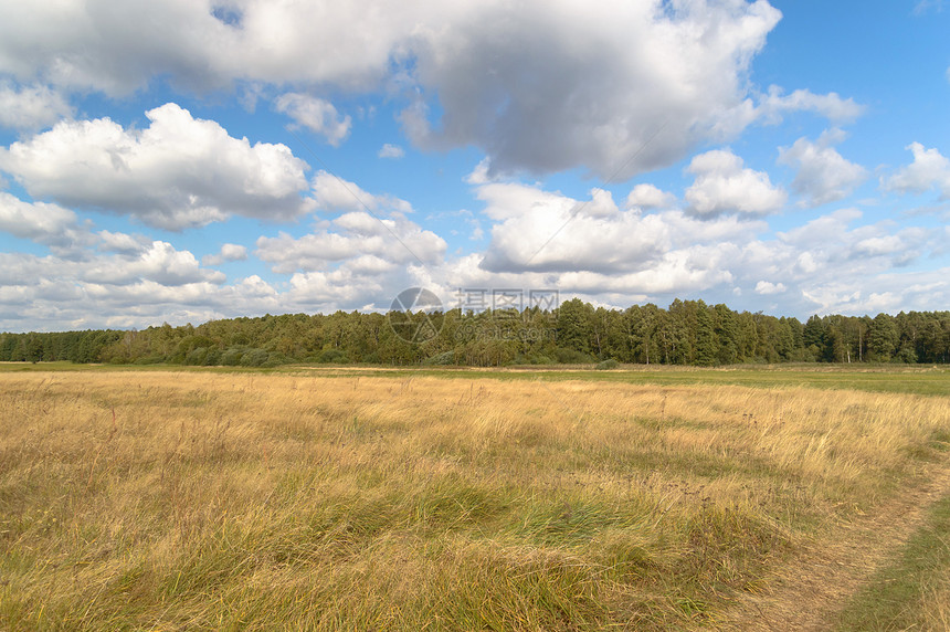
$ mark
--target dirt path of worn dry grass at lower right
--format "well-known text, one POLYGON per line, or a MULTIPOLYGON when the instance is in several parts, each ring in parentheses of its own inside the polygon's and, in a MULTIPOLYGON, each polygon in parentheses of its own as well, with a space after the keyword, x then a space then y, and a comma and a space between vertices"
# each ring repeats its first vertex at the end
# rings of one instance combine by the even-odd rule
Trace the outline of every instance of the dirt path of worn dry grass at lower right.
POLYGON ((843 524, 806 549, 780 575, 772 591, 746 594, 717 617, 719 630, 830 630, 835 614, 921 526, 927 509, 950 494, 950 463, 935 464, 929 482, 898 494, 873 515, 843 524))

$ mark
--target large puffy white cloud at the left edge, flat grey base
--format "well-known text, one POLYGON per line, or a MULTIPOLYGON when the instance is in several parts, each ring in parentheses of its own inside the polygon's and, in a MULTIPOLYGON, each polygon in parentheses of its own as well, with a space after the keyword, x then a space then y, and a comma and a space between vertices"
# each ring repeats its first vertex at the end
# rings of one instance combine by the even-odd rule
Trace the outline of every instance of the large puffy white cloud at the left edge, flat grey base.
POLYGON ((108 118, 61 122, 0 149, 0 169, 34 198, 181 230, 232 213, 286 220, 310 210, 306 162, 284 145, 233 138, 173 103, 142 130, 108 118))

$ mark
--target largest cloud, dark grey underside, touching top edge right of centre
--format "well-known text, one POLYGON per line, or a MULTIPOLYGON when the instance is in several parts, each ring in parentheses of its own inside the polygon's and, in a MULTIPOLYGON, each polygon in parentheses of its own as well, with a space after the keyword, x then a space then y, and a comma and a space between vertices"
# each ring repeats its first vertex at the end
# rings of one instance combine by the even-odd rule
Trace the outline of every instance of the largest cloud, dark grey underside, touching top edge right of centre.
POLYGON ((485 3, 421 32, 415 76, 442 116, 421 103, 403 120, 416 143, 477 145, 502 172, 627 178, 737 127, 780 15, 764 1, 485 3))

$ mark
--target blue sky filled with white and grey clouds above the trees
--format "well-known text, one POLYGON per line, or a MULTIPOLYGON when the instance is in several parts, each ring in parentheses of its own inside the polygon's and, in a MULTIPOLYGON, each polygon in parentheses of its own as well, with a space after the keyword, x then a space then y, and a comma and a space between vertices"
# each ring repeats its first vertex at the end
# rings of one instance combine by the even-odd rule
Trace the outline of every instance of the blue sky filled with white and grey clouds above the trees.
POLYGON ((942 0, 0 0, 0 331, 411 287, 950 309, 948 33, 942 0))

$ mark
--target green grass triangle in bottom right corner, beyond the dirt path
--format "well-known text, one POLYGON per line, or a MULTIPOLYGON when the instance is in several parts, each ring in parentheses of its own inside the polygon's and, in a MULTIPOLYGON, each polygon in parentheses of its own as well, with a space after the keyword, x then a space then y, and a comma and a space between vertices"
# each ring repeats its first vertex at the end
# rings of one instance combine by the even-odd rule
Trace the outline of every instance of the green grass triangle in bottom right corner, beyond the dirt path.
POLYGON ((946 630, 949 598, 950 496, 930 509, 899 559, 852 599, 837 629, 946 630))

